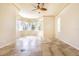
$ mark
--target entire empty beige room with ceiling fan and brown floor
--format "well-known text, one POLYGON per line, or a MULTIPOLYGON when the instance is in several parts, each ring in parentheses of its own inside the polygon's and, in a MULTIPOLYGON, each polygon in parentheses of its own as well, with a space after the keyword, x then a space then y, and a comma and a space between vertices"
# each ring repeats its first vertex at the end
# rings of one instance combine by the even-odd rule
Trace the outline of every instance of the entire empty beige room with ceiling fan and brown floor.
POLYGON ((0 56, 79 56, 79 3, 0 3, 0 56))

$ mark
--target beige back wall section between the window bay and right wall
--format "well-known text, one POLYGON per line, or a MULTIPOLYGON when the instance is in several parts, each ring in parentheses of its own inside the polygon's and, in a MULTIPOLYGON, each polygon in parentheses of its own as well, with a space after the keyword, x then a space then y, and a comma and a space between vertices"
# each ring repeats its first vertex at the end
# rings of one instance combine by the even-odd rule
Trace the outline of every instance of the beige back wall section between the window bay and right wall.
POLYGON ((54 17, 48 16, 43 18, 44 42, 52 42, 54 38, 54 17))

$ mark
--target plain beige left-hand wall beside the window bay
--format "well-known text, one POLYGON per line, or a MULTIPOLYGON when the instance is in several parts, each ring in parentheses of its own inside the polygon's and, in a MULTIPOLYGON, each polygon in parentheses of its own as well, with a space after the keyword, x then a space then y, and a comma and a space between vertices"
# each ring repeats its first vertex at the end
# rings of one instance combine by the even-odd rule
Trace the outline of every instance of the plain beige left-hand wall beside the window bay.
POLYGON ((16 40, 16 10, 12 4, 0 4, 0 48, 16 40))

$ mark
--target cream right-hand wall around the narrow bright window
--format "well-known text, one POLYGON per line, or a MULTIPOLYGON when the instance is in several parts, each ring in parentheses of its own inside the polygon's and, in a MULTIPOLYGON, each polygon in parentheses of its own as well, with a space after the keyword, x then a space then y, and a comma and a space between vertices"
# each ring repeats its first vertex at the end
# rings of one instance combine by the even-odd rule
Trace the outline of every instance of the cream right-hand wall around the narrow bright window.
POLYGON ((55 20, 56 38, 79 49, 79 4, 69 4, 55 20), (57 19, 61 18, 61 32, 57 32, 57 19))

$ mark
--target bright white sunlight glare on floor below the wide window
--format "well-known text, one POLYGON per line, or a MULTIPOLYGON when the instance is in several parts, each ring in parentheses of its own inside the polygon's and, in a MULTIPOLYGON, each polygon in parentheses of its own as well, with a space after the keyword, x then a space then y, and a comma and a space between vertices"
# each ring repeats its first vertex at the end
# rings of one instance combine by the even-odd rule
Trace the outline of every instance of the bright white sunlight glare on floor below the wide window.
MULTIPOLYGON (((16 41, 16 49, 19 55, 31 55, 33 52, 41 51, 41 37, 26 36, 16 41)), ((34 55, 34 54, 33 54, 34 55)))

